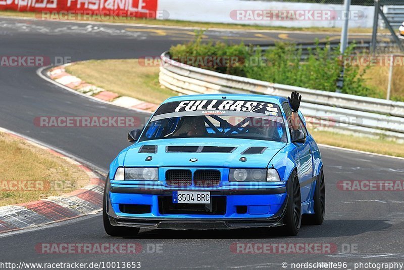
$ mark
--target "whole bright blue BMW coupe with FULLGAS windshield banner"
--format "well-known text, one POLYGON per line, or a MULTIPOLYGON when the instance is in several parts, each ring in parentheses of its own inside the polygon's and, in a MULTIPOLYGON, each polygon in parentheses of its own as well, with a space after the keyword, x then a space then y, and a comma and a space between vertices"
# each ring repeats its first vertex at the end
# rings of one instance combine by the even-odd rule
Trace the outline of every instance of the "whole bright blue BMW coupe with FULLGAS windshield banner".
POLYGON ((287 99, 194 95, 167 99, 133 145, 110 165, 104 227, 111 236, 148 229, 321 224, 325 184, 320 150, 287 99))

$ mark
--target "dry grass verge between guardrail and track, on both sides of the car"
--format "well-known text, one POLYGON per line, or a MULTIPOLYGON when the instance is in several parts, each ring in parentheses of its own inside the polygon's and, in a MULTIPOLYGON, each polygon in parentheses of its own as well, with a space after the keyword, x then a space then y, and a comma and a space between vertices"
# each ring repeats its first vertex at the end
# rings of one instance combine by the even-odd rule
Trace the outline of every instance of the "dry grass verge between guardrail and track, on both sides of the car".
MULTIPOLYGON (((162 89, 159 86, 158 67, 139 66, 136 59, 81 62, 67 67, 67 71, 109 91, 156 104, 160 104, 169 96, 177 95, 176 92, 162 89), (99 76, 99 74, 103 74, 103 76, 99 76)), ((324 130, 312 129, 311 133, 319 144, 404 157, 404 144, 324 130)))

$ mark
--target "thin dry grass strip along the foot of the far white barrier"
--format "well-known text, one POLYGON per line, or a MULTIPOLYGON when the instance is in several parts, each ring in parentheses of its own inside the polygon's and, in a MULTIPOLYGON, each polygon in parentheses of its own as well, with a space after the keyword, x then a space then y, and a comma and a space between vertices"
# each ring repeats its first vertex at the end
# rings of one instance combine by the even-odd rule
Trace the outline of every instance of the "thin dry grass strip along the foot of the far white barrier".
MULTIPOLYGON (((0 16, 13 16, 13 17, 30 17, 41 18, 40 13, 35 12, 17 12, 12 10, 0 11, 0 16)), ((80 20, 89 22, 110 22, 110 23, 135 23, 144 25, 163 25, 163 26, 181 26, 181 27, 198 27, 198 28, 223 28, 235 30, 279 30, 279 31, 304 31, 304 32, 327 32, 327 33, 340 33, 341 28, 334 27, 277 27, 277 26, 260 26, 260 25, 244 25, 244 24, 225 24, 225 23, 205 23, 205 22, 188 22, 179 20, 151 20, 141 18, 122 18, 117 20, 80 20)), ((385 29, 379 29, 380 33, 387 33, 385 29)), ((350 28, 349 33, 372 33, 371 28, 350 28)))

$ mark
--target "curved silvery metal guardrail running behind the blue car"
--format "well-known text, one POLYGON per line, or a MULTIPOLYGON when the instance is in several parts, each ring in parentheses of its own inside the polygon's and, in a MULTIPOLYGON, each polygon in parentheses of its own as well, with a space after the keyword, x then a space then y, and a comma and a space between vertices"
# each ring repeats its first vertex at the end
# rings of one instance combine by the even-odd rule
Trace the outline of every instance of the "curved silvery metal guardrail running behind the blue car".
POLYGON ((184 95, 252 93, 287 97, 298 91, 304 97, 301 110, 325 128, 404 142, 404 102, 332 93, 221 74, 178 63, 161 55, 160 83, 184 95), (323 121, 324 123, 324 121, 323 121))

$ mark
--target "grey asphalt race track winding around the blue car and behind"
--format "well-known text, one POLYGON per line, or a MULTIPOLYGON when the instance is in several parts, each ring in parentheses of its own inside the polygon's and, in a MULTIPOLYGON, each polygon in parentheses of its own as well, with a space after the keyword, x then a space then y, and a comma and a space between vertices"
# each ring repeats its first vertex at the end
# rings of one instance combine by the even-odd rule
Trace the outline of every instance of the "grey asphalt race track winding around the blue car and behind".
MULTIPOLYGON (((67 56, 72 61, 137 58, 159 55, 171 44, 189 40, 192 30, 113 26, 73 22, 0 18, 0 55, 67 56)), ((271 43, 285 37, 312 41, 326 34, 208 31, 214 39, 271 43)), ((368 39, 369 36, 363 37, 368 39)), ((72 94, 41 79, 37 67, 0 67, 0 126, 74 155, 106 173, 109 162, 128 145, 126 128, 44 128, 37 116, 138 116, 137 113, 72 94)), ((280 237, 273 230, 146 231, 137 237, 105 234, 100 214, 35 230, 0 235, 0 260, 24 262, 140 261, 146 269, 206 268, 282 269, 297 262, 404 262, 404 200, 402 192, 341 191, 341 180, 402 179, 400 159, 321 148, 326 177, 326 220, 322 226, 304 226, 297 237, 280 237), (139 254, 41 254, 38 243, 140 243, 139 254), (331 254, 235 254, 232 243, 332 243, 331 254), (154 252, 162 244, 162 252, 154 252), (147 249, 150 247, 150 249, 147 249), (349 247, 349 248, 347 248, 349 247), (345 251, 345 252, 343 252, 345 251)))

